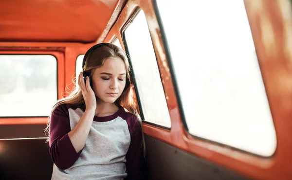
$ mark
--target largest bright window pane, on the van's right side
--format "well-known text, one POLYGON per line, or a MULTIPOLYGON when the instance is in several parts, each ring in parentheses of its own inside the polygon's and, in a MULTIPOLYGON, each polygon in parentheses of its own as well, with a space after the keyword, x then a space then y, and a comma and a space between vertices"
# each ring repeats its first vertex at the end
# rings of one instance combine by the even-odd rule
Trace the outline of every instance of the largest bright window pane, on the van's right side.
POLYGON ((157 5, 189 132, 273 155, 276 134, 243 1, 157 5))

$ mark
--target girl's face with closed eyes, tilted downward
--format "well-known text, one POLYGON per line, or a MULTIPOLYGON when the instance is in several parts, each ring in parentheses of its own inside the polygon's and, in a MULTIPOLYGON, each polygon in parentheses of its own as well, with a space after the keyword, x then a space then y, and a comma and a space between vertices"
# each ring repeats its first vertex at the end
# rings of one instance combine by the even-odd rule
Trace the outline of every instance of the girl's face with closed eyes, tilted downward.
POLYGON ((126 66, 120 57, 105 60, 92 74, 92 89, 97 101, 114 103, 126 86, 126 66))

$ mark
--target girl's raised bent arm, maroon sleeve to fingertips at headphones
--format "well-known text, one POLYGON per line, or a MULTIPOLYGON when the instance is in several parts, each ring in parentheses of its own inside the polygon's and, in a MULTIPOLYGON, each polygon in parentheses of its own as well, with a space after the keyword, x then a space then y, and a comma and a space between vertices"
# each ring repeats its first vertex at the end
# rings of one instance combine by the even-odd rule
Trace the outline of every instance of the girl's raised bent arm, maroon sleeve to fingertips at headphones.
POLYGON ((96 99, 90 87, 89 78, 86 85, 80 73, 78 85, 82 90, 86 110, 77 125, 71 130, 67 106, 60 105, 50 121, 50 154, 53 162, 60 169, 71 167, 78 159, 88 137, 96 109, 96 99))

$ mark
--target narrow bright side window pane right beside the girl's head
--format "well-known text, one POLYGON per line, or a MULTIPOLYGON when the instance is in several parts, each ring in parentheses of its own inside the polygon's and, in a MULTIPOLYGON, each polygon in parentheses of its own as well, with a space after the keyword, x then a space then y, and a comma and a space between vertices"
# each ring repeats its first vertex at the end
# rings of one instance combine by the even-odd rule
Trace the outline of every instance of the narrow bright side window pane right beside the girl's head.
POLYGON ((164 90, 144 12, 125 31, 145 121, 171 127, 164 90))

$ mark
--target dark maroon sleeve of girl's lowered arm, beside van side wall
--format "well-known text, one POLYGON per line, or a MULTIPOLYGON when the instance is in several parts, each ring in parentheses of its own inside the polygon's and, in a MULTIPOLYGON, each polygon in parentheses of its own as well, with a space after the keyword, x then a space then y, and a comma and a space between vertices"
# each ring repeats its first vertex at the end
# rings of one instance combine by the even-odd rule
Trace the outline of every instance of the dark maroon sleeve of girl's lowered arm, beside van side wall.
POLYGON ((143 153, 142 130, 135 116, 127 120, 131 142, 126 155, 128 176, 125 180, 147 180, 148 170, 143 153))

